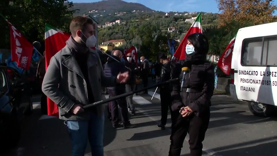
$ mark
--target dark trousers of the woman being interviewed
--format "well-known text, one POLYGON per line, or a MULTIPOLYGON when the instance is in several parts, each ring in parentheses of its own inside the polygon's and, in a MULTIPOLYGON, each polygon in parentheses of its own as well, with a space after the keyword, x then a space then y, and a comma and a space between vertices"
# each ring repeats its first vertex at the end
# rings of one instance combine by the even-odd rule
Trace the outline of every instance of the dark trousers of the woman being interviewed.
POLYGON ((209 119, 209 108, 200 117, 192 114, 183 118, 179 114, 171 129, 169 156, 180 156, 187 133, 190 135, 190 140, 188 141, 190 144, 190 156, 201 156, 202 142, 208 129, 209 119))

